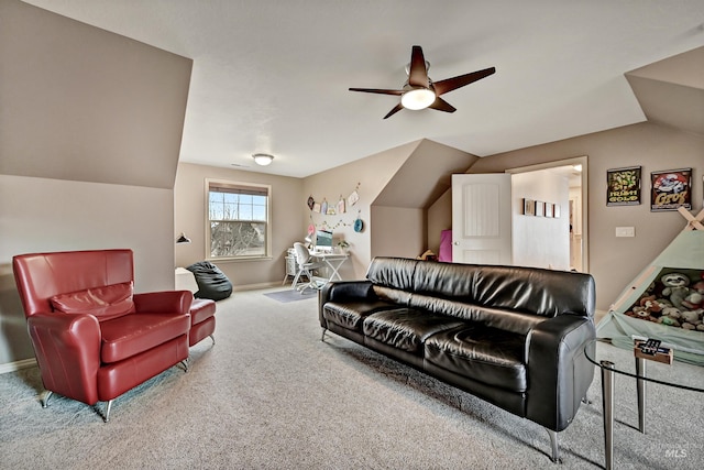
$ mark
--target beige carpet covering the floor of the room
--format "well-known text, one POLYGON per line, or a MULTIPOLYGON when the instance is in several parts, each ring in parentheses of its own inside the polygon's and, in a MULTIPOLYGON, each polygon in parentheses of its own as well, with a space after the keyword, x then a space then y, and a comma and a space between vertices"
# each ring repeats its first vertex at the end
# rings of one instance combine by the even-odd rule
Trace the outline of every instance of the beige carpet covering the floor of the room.
MULTIPOLYGON (((317 299, 238 292, 218 303, 217 345, 118 398, 103 424, 81 403, 42 409, 38 372, 0 375, 2 469, 594 469, 604 461, 600 379, 561 433, 548 434, 334 335, 317 299)), ((614 348, 614 360, 631 360, 614 348)), ((703 373, 692 367, 686 373, 703 373)), ((704 464, 704 396, 649 387, 648 435, 632 380, 616 382, 616 468, 704 464)), ((102 404, 100 405, 102 406, 102 404)))

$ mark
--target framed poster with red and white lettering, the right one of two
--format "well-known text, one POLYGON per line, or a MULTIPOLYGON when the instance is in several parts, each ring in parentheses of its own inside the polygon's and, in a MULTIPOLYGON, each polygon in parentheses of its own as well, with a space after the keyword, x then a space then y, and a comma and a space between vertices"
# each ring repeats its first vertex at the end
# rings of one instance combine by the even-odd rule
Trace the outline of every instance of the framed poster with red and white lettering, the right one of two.
POLYGON ((692 168, 650 173, 650 210, 692 210, 692 168))

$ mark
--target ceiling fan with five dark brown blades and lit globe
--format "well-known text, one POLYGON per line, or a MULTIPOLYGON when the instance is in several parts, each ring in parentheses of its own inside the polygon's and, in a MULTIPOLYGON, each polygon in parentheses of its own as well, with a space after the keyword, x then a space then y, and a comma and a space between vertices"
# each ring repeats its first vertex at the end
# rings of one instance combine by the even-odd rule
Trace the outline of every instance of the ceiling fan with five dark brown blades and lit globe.
POLYGON ((481 80, 496 72, 496 68, 490 67, 483 70, 472 72, 471 74, 459 75, 440 81, 432 81, 428 77, 428 68, 430 63, 426 62, 420 46, 413 46, 410 54, 410 64, 408 66, 408 81, 404 84, 400 90, 386 90, 378 88, 350 88, 350 91, 364 91, 378 95, 396 95, 400 96, 400 102, 394 107, 384 119, 394 116, 402 109, 437 109, 438 111, 454 112, 457 109, 440 98, 449 91, 470 85, 476 80, 481 80))

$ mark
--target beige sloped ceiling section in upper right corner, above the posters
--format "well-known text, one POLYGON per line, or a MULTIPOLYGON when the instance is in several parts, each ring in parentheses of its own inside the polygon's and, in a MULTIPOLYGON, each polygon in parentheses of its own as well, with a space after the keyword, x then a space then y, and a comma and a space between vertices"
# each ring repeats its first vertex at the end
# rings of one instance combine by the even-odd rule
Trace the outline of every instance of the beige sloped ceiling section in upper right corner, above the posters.
POLYGON ((648 121, 704 135, 704 46, 628 72, 648 121))

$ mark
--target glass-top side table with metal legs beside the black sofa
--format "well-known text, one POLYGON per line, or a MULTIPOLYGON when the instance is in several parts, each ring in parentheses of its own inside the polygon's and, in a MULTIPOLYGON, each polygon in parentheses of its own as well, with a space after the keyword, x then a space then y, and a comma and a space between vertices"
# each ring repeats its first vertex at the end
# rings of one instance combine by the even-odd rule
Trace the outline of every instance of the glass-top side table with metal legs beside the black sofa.
POLYGON ((636 379, 638 394, 638 429, 646 433, 646 383, 674 386, 704 393, 704 368, 673 361, 660 363, 634 354, 632 361, 613 362, 610 342, 594 340, 585 346, 584 353, 590 362, 602 371, 602 397, 604 417, 604 455, 606 469, 614 464, 614 379, 615 374, 636 379))

